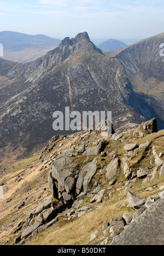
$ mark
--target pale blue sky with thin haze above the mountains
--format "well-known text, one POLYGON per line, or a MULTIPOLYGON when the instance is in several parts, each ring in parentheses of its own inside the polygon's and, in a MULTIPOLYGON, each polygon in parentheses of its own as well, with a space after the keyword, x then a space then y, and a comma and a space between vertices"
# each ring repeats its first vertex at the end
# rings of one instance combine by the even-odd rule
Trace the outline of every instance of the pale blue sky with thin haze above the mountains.
POLYGON ((163 0, 0 0, 0 31, 141 39, 164 32, 163 10, 163 0))

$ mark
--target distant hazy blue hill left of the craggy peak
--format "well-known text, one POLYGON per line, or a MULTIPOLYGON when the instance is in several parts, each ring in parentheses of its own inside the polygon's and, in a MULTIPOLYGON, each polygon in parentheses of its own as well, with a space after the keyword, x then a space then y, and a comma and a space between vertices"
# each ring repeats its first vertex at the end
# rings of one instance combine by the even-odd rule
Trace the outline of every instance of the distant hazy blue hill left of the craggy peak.
POLYGON ((30 34, 2 31, 0 43, 3 44, 3 57, 16 62, 28 62, 44 56, 48 51, 55 49, 61 40, 43 34, 31 36, 30 34))

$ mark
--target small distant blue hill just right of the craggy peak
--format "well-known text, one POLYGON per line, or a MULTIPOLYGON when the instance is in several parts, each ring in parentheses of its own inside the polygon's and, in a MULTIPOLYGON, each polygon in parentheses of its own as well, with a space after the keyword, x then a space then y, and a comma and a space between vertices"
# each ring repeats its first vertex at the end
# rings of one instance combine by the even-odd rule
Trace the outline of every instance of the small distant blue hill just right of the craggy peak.
POLYGON ((127 44, 122 43, 119 40, 116 39, 108 39, 104 41, 101 44, 98 44, 97 47, 102 50, 103 53, 106 53, 107 51, 113 51, 116 49, 120 49, 122 47, 127 46, 127 44))

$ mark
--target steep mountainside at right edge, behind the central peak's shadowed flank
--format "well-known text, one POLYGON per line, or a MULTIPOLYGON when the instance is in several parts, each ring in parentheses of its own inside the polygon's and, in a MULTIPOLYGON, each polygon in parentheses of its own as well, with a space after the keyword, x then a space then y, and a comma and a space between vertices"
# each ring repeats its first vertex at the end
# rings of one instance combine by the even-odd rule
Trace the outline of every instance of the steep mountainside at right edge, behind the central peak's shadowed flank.
POLYGON ((148 102, 159 116, 159 129, 164 125, 163 42, 164 33, 106 53, 108 57, 121 60, 136 95, 148 102))

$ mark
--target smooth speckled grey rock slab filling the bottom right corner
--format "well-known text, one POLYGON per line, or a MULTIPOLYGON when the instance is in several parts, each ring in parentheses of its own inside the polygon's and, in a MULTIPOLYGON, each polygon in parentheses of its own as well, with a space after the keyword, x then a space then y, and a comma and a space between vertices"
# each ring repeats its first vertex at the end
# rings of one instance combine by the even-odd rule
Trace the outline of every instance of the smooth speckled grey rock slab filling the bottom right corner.
POLYGON ((163 245, 164 199, 151 205, 111 245, 163 245))

